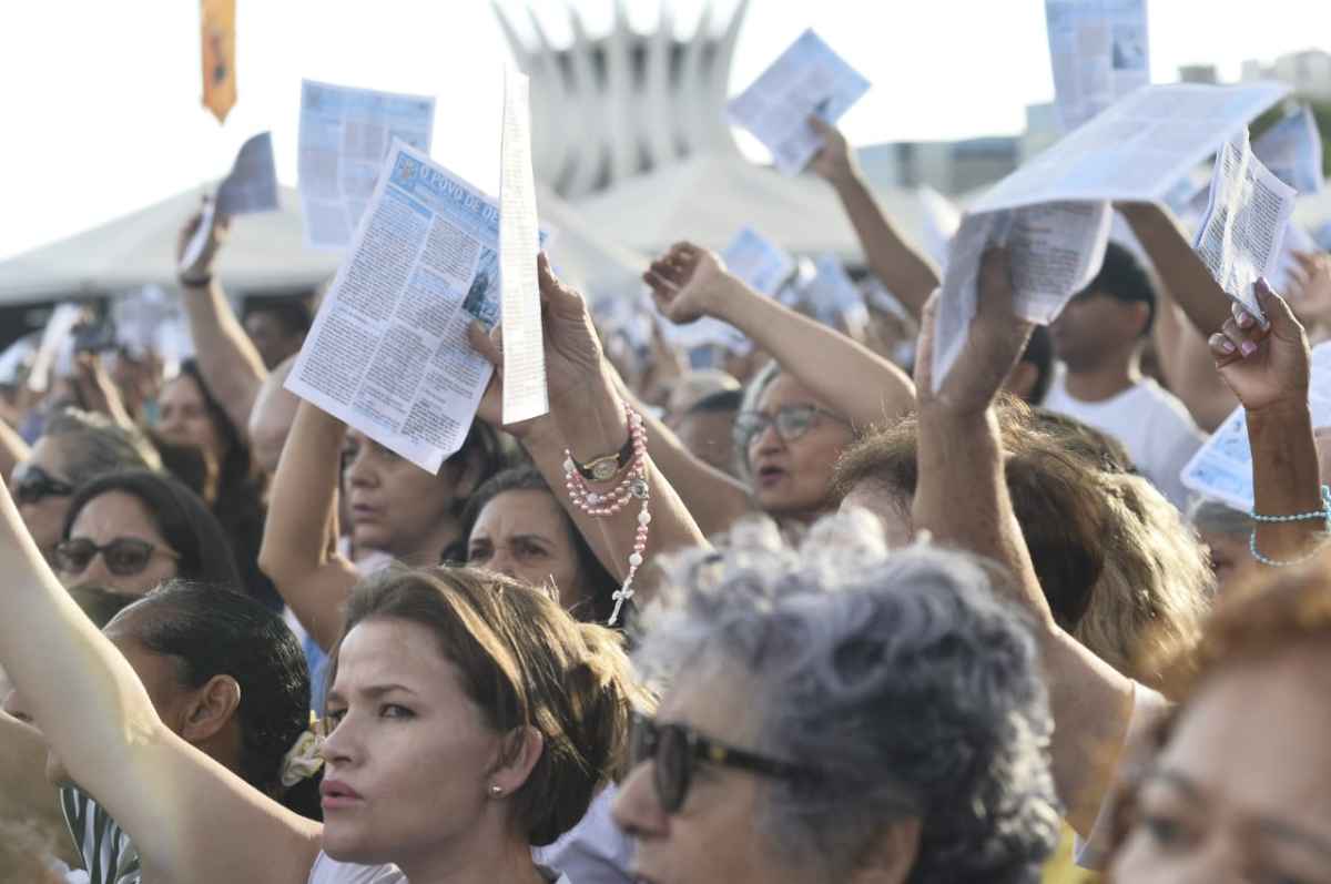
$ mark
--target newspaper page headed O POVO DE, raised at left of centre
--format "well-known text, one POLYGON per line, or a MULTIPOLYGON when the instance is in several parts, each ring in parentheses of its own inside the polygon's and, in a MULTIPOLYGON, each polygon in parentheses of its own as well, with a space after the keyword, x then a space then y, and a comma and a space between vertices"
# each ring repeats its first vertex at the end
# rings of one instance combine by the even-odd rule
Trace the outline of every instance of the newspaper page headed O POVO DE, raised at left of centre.
POLYGON ((499 206, 395 141, 286 389, 417 466, 462 447, 499 322, 499 206))

